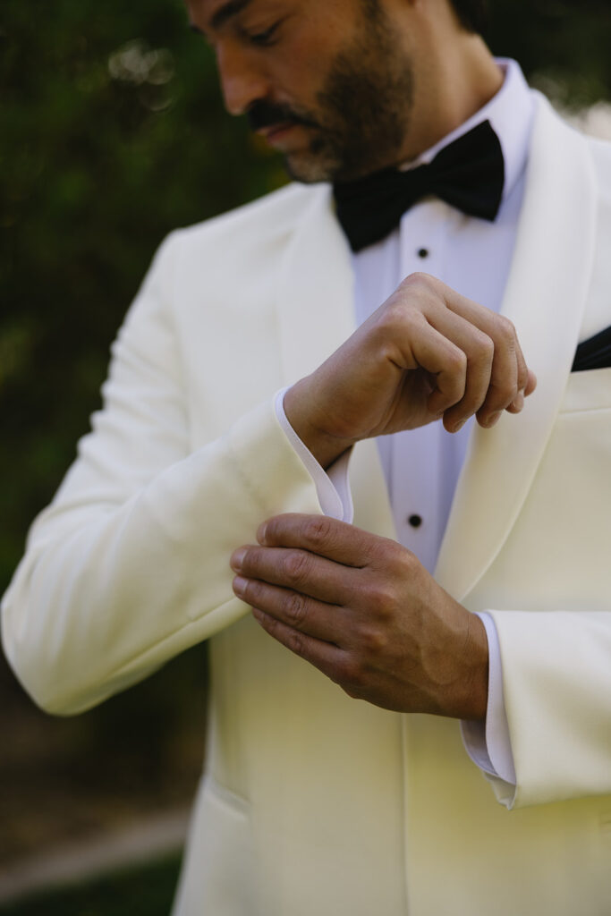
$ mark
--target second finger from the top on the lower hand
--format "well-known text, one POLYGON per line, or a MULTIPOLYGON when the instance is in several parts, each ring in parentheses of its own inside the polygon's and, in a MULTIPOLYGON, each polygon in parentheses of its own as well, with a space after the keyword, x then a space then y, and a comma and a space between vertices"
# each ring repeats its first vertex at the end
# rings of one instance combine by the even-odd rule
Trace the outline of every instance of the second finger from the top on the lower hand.
POLYGON ((258 545, 235 551, 231 566, 235 573, 247 579, 280 585, 333 605, 349 600, 354 590, 350 582, 357 573, 310 551, 258 545))

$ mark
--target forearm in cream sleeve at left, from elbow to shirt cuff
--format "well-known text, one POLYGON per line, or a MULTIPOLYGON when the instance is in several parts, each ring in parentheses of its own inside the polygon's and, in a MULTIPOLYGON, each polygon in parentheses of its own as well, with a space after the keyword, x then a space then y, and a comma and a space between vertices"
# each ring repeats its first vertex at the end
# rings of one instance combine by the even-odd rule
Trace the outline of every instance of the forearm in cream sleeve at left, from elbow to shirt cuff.
POLYGON ((242 616, 235 544, 270 510, 319 511, 271 402, 121 505, 81 477, 38 520, 3 604, 6 655, 53 712, 100 702, 242 616))

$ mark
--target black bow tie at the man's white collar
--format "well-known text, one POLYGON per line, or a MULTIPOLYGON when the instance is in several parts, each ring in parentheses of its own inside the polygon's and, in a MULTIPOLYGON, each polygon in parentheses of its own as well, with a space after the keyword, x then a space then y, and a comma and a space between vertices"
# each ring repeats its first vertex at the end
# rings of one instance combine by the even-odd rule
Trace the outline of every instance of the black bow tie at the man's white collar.
POLYGON ((337 218, 353 251, 392 232, 403 213, 434 194, 469 216, 496 219, 505 184, 503 150, 489 121, 459 136, 428 165, 383 169, 333 185, 337 218))

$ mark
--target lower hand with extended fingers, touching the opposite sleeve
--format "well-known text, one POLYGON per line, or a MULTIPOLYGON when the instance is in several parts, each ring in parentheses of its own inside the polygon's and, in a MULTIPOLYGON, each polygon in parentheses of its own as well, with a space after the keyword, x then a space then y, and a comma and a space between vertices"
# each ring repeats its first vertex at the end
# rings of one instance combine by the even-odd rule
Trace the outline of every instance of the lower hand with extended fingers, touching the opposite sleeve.
POLYGON ((413 553, 325 516, 270 518, 256 537, 232 556, 234 591, 270 636, 352 697, 486 717, 484 625, 413 553))

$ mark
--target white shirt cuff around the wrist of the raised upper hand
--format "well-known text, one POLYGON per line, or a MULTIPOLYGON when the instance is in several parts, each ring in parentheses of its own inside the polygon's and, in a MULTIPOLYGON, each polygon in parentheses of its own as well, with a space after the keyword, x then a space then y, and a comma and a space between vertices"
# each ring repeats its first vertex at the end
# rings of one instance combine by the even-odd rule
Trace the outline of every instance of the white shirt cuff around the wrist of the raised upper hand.
POLYGON ((324 515, 351 523, 355 516, 352 494, 348 483, 348 463, 350 462, 352 449, 348 449, 344 454, 341 454, 337 461, 333 462, 324 471, 311 451, 301 442, 300 437, 293 430, 287 419, 287 415, 284 412, 284 396, 288 390, 289 387, 281 388, 274 402, 280 428, 289 440, 300 462, 310 474, 324 515))

